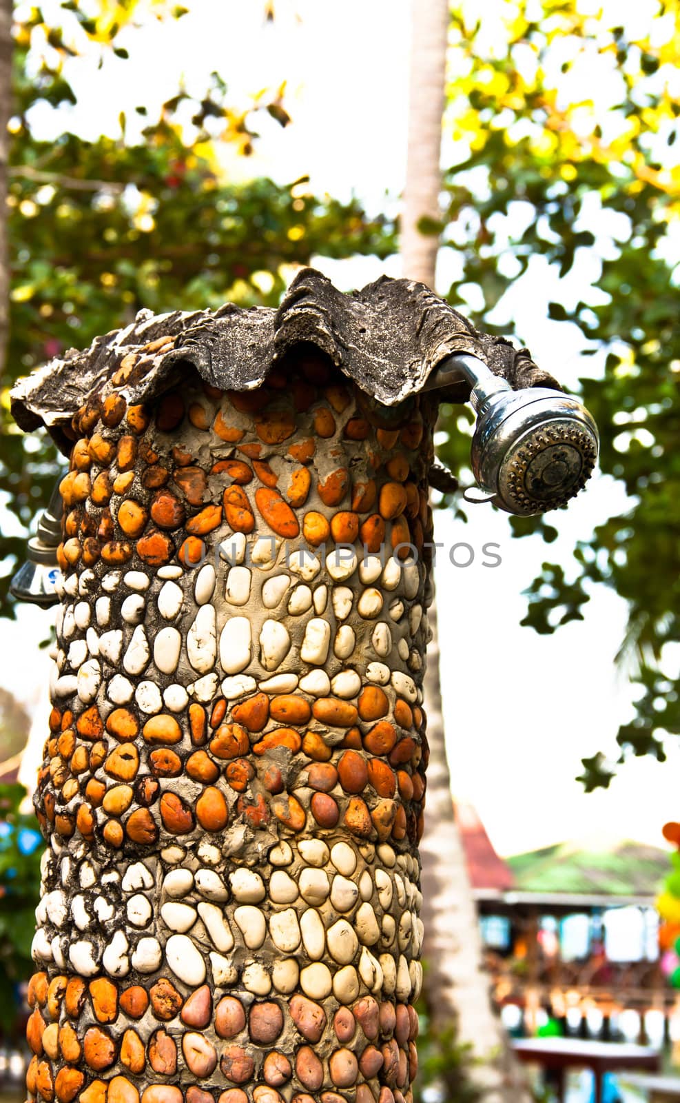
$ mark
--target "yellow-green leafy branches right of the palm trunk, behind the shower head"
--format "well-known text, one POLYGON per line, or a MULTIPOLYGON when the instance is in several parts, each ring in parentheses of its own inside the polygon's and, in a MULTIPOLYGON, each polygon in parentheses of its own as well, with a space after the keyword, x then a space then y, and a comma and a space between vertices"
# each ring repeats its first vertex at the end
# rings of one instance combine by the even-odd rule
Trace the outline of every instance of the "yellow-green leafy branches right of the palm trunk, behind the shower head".
MULTIPOLYGON (((454 8, 455 163, 446 216, 430 228, 457 258, 451 301, 465 310, 483 299, 468 310, 478 325, 498 331, 494 308, 496 321, 507 317, 508 289, 517 297, 529 268, 536 281, 547 263, 564 289, 550 317, 579 326, 583 355, 595 356, 581 395, 601 430, 602 471, 628 502, 579 543, 566 569, 543 564, 524 623, 548 633, 582 620, 593 583, 620 595, 629 611, 617 657, 639 700, 618 731, 619 762, 662 760, 663 735, 680 732, 670 675, 680 635, 680 6, 494 0, 490 9, 482 18, 468 0, 454 8)), ((456 420, 463 428, 457 410, 456 420)), ((440 454, 460 470, 467 445, 451 432, 440 454)), ((516 536, 550 540, 559 515, 511 524, 516 536)), ((582 780, 606 785, 614 771, 595 753, 582 780)))

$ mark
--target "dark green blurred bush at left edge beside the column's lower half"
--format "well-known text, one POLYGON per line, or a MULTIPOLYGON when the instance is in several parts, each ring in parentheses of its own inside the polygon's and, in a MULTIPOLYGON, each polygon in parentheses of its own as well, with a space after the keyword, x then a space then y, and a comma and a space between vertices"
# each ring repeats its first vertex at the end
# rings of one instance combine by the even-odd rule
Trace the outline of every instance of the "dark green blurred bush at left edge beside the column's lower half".
POLYGON ((40 895, 42 835, 19 806, 23 785, 0 785, 0 1027, 17 1018, 17 985, 33 972, 31 943, 40 895))

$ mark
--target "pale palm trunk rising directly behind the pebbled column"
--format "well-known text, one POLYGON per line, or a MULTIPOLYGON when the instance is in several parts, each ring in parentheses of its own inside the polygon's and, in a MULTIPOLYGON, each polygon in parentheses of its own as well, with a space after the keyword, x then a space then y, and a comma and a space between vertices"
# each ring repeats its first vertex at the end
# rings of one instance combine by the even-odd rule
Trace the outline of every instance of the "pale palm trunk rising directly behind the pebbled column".
MULTIPOLYGON (((401 218, 403 275, 434 288, 439 235, 418 224, 441 217, 440 152, 449 26, 447 0, 413 0, 409 144, 401 218)), ((490 1004, 483 970, 477 914, 453 814, 442 715, 436 608, 429 611, 432 640, 424 679, 430 763, 427 831, 421 843, 425 1003, 434 1032, 456 1024, 456 1041, 477 1061, 468 1075, 485 1100, 528 1103, 529 1094, 490 1004)))

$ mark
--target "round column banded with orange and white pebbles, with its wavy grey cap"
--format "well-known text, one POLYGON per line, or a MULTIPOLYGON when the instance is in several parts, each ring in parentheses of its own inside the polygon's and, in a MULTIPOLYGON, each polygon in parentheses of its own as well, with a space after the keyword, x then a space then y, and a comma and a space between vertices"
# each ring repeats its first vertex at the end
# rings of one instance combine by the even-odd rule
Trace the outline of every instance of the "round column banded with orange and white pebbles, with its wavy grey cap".
POLYGON ((412 1097, 438 398, 378 401, 305 278, 257 342, 142 318, 17 399, 71 438, 31 1100, 412 1097))

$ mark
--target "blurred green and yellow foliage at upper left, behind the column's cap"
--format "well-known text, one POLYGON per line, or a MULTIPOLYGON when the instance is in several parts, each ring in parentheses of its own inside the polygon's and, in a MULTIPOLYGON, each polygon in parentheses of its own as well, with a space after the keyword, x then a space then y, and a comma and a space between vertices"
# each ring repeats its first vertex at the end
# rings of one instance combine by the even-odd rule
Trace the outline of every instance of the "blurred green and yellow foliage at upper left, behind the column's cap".
POLYGON ((311 194, 306 178, 288 186, 226 179, 220 157, 252 152, 258 118, 289 124, 283 88, 235 107, 225 81, 213 73, 202 95, 179 88, 158 118, 140 104, 141 133, 123 115, 118 137, 86 141, 74 132, 73 60, 97 63, 88 85, 96 101, 97 66, 117 65, 125 81, 136 21, 181 19, 185 10, 160 0, 62 0, 45 11, 40 4, 15 9, 11 339, 0 381, 0 494, 18 524, 2 538, 0 614, 13 615, 9 581, 58 463, 44 436, 20 433, 9 417, 8 392, 18 376, 72 345, 86 347, 142 307, 277 306, 290 266, 314 254, 384 257, 396 248, 386 218, 370 218, 355 200, 311 194), (46 117, 58 124, 56 139, 44 140, 46 117))

